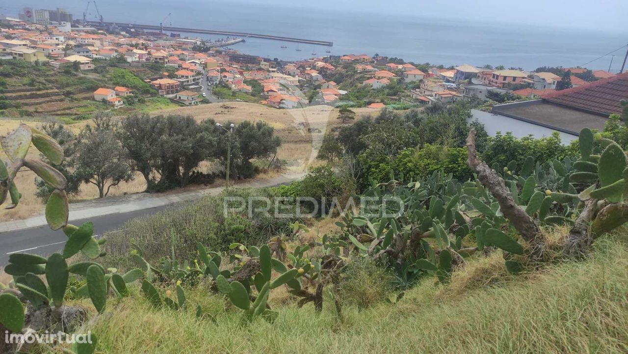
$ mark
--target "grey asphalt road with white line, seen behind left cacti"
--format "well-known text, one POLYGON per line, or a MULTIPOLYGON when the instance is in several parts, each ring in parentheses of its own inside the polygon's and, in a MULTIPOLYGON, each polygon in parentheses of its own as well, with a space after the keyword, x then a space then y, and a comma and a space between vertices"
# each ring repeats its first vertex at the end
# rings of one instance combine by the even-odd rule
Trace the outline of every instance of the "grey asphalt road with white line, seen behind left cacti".
MULTIPOLYGON (((131 213, 107 214, 97 218, 73 220, 72 224, 78 226, 87 221, 92 221, 94 223, 94 235, 103 235, 107 231, 121 228, 122 224, 130 219, 153 214, 171 206, 172 204, 131 213)), ((66 240, 67 237, 62 230, 50 230, 48 225, 0 233, 0 267, 9 262, 11 253, 33 253, 47 257, 62 250, 66 240)))

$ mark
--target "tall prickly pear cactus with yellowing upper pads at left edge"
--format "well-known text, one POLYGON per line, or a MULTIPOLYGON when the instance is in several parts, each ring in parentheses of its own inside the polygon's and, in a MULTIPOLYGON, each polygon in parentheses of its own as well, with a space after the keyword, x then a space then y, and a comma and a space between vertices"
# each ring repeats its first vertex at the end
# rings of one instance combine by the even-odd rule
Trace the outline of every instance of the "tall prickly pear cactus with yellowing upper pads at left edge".
MULTIPOLYGON (((48 128, 58 127, 49 125, 48 128)), ((43 321, 41 323, 45 323, 46 329, 60 326, 61 330, 67 331, 67 326, 70 324, 63 323, 63 316, 65 316, 64 302, 68 294, 72 297, 89 297, 99 313, 104 312, 106 308, 109 290, 121 295, 119 288, 116 289, 120 283, 114 286, 112 282, 112 279, 116 277, 115 270, 110 270, 109 274, 105 275, 104 268, 92 262, 106 255, 100 252, 100 245, 104 243, 104 238, 99 240, 94 238, 94 225, 90 222, 78 227, 68 224, 68 199, 65 193, 67 181, 61 172, 43 160, 31 160, 26 157, 31 144, 48 162, 62 165, 64 149, 61 145, 51 136, 30 128, 26 124, 21 124, 1 140, 4 153, 12 163, 9 172, 4 161, 0 161, 0 202, 4 202, 9 194, 12 203, 9 207, 17 206, 21 194, 13 179, 22 167, 28 167, 54 188, 46 203, 45 218, 50 228, 63 230, 68 240, 61 253, 53 253, 48 258, 30 253, 9 255, 9 263, 4 267, 4 272, 13 276, 12 289, 6 290, 4 285, 0 289, 0 304, 2 305, 0 306, 0 327, 3 329, 6 327, 7 333, 9 331, 21 333, 24 326, 28 327, 37 321, 43 321), (68 265, 67 260, 78 252, 83 253, 92 261, 68 265), (85 284, 80 289, 71 287, 69 285, 70 274, 85 277, 85 284), (43 282, 42 277, 45 277, 46 282, 43 282), (26 304, 26 314, 24 314, 22 302, 26 304)), ((126 282, 133 280, 136 278, 122 279, 121 284, 124 286, 126 282)), ((92 344, 95 345, 95 343, 92 344)), ((0 348, 3 352, 12 351, 13 348, 10 346, 10 343, 5 343, 0 348)), ((93 351, 93 347, 91 350, 88 349, 79 350, 78 353, 93 351)))

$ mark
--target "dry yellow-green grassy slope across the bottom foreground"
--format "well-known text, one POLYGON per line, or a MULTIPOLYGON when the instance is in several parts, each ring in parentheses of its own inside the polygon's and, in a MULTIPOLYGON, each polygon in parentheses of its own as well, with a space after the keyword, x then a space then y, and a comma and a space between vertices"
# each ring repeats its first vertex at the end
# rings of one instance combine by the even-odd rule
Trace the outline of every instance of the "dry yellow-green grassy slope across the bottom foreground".
POLYGON ((450 287, 426 279, 397 305, 345 306, 342 321, 330 302, 317 315, 284 293, 271 302, 274 324, 241 326, 239 310, 205 285, 187 290, 185 313, 152 309, 138 295, 112 301, 112 316, 92 331, 100 353, 625 353, 627 240, 600 240, 584 262, 517 277, 495 253, 470 262, 450 287), (196 304, 214 319, 197 320, 196 304))

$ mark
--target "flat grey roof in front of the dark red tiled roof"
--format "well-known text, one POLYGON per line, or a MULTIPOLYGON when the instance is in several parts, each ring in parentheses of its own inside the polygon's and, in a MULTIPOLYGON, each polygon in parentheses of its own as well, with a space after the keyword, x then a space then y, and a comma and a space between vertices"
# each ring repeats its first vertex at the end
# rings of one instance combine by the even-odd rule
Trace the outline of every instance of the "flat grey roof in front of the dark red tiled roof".
POLYGON ((604 130, 607 118, 578 111, 543 100, 524 101, 494 106, 492 113, 527 121, 564 133, 578 135, 582 128, 604 130))

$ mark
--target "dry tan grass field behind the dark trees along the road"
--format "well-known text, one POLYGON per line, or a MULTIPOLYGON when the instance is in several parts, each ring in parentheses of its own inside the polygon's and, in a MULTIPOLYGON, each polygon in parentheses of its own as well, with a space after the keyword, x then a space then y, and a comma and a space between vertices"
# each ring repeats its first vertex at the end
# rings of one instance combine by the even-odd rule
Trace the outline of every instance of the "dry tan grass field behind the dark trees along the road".
MULTIPOLYGON (((155 97, 147 100, 156 106, 164 104, 161 97, 155 97), (160 101, 161 100, 161 101, 160 101)), ((97 102, 96 102, 97 103, 97 102)), ((166 103, 167 106, 167 103, 166 103)), ((122 113, 122 112, 121 112, 122 113)), ((359 118, 365 114, 377 113, 375 109, 357 108, 356 116, 359 118)), ((125 113, 123 113, 125 114, 125 113)), ((227 102, 203 104, 201 106, 162 109, 153 111, 151 114, 190 114, 198 121, 212 118, 217 122, 226 123, 233 121, 239 123, 241 121, 266 121, 275 128, 275 132, 281 137, 283 143, 279 147, 277 157, 286 160, 289 172, 303 172, 308 169, 311 163, 316 163, 316 155, 318 148, 322 143, 325 131, 338 128, 342 125, 338 117, 338 110, 328 106, 313 106, 305 109, 275 109, 260 104, 246 102, 227 102)), ((53 118, 50 118, 53 119, 53 118)), ((124 119, 124 118, 121 118, 124 119)), ((14 130, 21 121, 19 119, 0 119, 0 135, 6 135, 14 130)), ((31 118, 25 123, 31 126, 38 126, 40 121, 31 118)), ((77 123, 68 124, 67 126, 78 133, 80 129, 89 123, 87 121, 78 121, 77 123)), ((6 160, 2 154, 3 160, 6 160)), ((35 148, 31 148, 30 157, 38 157, 35 148)), ((263 178, 264 176, 260 176, 263 178)), ((24 219, 40 214, 43 211, 43 201, 35 196, 35 174, 24 170, 16 177, 16 184, 22 194, 20 205, 14 209, 4 210, 0 213, 0 221, 9 221, 13 219, 24 219)), ((198 188, 198 186, 190 186, 190 188, 198 188)), ((140 174, 136 174, 136 179, 121 183, 116 187, 112 187, 109 192, 110 196, 120 196, 127 193, 137 193, 144 191, 146 184, 140 174)), ((98 197, 98 190, 95 185, 84 184, 81 187, 78 196, 70 197, 70 201, 84 201, 95 199, 98 197)))

